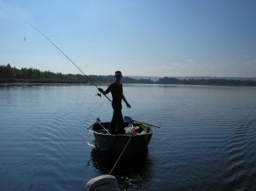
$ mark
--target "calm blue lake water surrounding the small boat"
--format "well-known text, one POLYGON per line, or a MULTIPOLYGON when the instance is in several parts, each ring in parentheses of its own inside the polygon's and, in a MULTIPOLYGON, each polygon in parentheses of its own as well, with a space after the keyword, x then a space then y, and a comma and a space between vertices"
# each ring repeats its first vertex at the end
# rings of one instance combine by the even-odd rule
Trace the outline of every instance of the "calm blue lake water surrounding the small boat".
MULTIPOLYGON (((84 190, 112 170, 87 131, 112 117, 96 93, 90 85, 0 88, 1 191, 84 190)), ((256 190, 256 88, 124 85, 124 94, 132 106, 124 116, 161 128, 144 163, 122 159, 113 169, 121 190, 256 190)))

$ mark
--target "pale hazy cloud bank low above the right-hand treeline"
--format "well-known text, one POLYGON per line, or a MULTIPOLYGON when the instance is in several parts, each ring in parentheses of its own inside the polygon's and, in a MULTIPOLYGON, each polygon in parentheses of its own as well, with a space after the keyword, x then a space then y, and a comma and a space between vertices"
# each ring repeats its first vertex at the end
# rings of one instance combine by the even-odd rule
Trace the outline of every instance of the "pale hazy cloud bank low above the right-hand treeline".
MULTIPOLYGON (((131 60, 120 64, 120 62, 93 65, 89 74, 113 74, 115 70, 121 70, 124 75, 143 75, 159 77, 175 76, 216 76, 216 77, 254 77, 256 74, 256 59, 243 63, 223 63, 217 59, 207 62, 188 59, 180 62, 172 62, 165 65, 157 65, 152 60, 131 60), (108 66, 108 67, 106 67, 108 66), (102 68, 105 67, 104 71, 102 68)), ((88 70, 88 68, 86 68, 88 70)))

